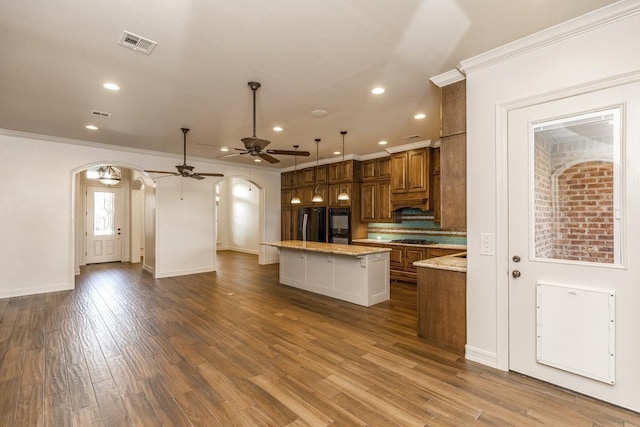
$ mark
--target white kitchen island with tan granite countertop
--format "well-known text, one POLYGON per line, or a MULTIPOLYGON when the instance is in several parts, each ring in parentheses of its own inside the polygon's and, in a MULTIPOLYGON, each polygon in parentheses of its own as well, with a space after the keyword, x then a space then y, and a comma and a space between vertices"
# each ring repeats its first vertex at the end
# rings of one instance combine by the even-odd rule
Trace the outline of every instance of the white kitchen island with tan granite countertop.
POLYGON ((390 249, 285 240, 280 283, 369 307, 389 300, 390 249))

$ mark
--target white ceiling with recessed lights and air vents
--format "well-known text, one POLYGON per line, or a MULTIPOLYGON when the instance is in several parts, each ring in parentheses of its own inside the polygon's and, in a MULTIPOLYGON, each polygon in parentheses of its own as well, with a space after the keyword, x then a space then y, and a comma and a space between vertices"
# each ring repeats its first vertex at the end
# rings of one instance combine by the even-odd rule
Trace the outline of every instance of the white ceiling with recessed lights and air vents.
MULTIPOLYGON (((438 138, 430 77, 614 2, 0 0, 0 128, 182 153, 180 128, 189 127, 188 155, 216 158, 218 148, 201 144, 242 148, 251 136, 255 80, 257 136, 268 148, 299 144, 312 153, 302 161, 313 161, 321 138, 320 157, 331 157, 347 130, 347 155, 380 152, 382 139, 438 138), (125 30, 158 45, 151 55, 124 48, 125 30), (121 90, 103 89, 107 81, 121 90), (386 93, 372 95, 374 86, 386 93)), ((259 166, 293 165, 276 157, 259 166)))

